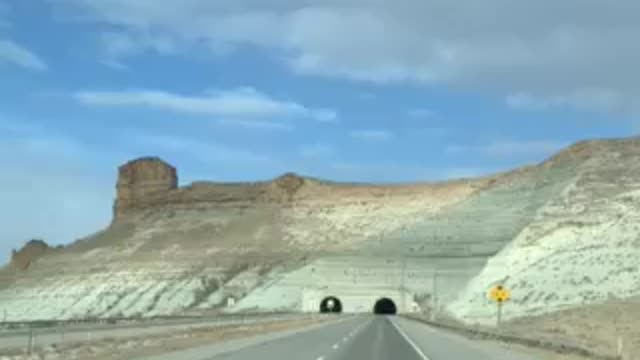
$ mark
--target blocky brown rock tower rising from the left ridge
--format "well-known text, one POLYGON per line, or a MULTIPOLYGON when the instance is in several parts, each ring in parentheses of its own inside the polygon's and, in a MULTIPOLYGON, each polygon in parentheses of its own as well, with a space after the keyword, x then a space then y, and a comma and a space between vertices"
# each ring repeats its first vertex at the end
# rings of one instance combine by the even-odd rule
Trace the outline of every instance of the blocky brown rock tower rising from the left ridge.
POLYGON ((178 187, 176 169, 156 157, 132 160, 118 169, 114 219, 147 199, 178 187))

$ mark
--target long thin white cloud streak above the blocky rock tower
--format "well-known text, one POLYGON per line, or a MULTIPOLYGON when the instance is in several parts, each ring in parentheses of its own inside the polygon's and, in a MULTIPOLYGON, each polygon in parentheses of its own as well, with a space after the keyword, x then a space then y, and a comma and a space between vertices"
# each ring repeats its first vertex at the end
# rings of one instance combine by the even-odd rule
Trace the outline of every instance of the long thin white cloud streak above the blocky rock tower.
POLYGON ((199 96, 180 95, 160 90, 80 91, 74 98, 87 105, 108 107, 146 107, 201 116, 225 118, 312 118, 333 122, 334 110, 312 109, 292 101, 280 101, 253 88, 210 91, 199 96))

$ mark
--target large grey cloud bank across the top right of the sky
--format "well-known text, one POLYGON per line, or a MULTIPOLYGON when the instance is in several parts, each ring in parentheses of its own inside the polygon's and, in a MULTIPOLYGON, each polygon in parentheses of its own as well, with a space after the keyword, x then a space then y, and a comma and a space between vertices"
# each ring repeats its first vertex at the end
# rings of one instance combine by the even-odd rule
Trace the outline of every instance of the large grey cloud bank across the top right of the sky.
POLYGON ((629 109, 640 93, 635 0, 49 1, 142 38, 132 45, 141 50, 125 46, 134 55, 157 51, 155 38, 184 56, 194 48, 263 48, 298 73, 376 83, 540 98, 607 89, 619 97, 607 105, 614 111, 629 109))

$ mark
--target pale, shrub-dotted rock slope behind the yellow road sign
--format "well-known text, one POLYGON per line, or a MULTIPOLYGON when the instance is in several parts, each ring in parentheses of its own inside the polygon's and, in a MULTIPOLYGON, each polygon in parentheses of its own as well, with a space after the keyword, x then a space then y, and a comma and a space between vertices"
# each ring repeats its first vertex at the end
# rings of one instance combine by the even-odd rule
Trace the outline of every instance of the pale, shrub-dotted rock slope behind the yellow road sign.
POLYGON ((640 294, 640 147, 637 139, 578 144, 543 167, 576 169, 515 239, 448 306, 493 323, 487 290, 511 292, 507 319, 640 294))

